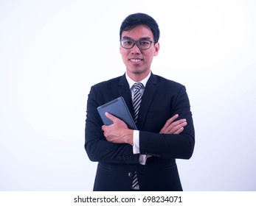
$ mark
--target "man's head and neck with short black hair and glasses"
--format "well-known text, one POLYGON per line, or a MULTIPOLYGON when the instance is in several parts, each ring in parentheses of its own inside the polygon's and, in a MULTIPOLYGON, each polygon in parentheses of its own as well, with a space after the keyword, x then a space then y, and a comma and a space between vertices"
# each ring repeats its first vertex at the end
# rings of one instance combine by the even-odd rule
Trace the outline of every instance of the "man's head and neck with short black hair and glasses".
POLYGON ((151 72, 153 57, 159 52, 159 27, 151 16, 129 15, 120 27, 120 54, 126 72, 139 82, 151 72))

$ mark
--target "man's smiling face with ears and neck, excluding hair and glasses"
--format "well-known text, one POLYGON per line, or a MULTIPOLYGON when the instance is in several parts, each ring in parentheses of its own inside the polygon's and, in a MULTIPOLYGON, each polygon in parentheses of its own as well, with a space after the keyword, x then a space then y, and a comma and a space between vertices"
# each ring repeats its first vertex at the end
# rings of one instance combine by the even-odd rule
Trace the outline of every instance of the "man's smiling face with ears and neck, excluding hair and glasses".
MULTIPOLYGON (((139 25, 130 31, 122 32, 122 39, 131 40, 148 39, 153 41, 153 33, 148 26, 139 25)), ((131 79, 140 81, 148 76, 151 71, 153 57, 159 52, 159 43, 152 43, 149 49, 139 49, 136 44, 131 49, 124 49, 120 46, 122 61, 125 63, 126 71, 131 79)))

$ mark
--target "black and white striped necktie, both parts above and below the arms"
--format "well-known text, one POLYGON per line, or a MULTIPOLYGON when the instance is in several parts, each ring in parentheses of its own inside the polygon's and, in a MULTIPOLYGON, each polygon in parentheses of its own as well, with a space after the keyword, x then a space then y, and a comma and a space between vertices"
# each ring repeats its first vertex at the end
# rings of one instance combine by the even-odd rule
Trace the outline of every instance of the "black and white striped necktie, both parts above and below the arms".
MULTIPOLYGON (((142 93, 140 92, 141 88, 143 88, 142 83, 135 83, 134 84, 134 99, 133 99, 133 106, 134 106, 134 122, 136 124, 138 114, 139 114, 139 106, 140 102, 142 102, 142 93)), ((138 177, 136 174, 136 171, 134 171, 134 176, 133 176, 133 182, 131 184, 131 188, 134 190, 139 190, 139 182, 138 182, 138 177)))

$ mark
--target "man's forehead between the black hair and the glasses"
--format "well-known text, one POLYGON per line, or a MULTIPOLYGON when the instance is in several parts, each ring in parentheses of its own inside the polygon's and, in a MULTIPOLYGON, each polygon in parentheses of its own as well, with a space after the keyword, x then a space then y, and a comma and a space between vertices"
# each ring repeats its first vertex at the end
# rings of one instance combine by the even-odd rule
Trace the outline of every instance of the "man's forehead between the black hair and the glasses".
POLYGON ((134 40, 140 38, 149 38, 153 40, 153 32, 148 26, 139 25, 135 26, 133 29, 122 32, 122 38, 132 38, 134 40))

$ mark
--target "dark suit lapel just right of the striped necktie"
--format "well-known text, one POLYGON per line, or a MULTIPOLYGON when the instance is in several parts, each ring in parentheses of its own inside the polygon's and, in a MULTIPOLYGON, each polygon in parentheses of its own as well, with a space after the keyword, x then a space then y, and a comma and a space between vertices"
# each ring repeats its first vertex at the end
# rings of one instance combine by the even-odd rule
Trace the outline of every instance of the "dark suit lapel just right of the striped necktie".
POLYGON ((137 121, 137 127, 138 129, 143 128, 145 124, 145 120, 147 118, 148 109, 151 107, 151 103, 153 102, 153 97, 155 96, 156 90, 157 90, 157 81, 156 77, 151 74, 151 77, 148 79, 148 82, 146 84, 143 96, 142 96, 142 102, 139 107, 139 116, 137 121))

